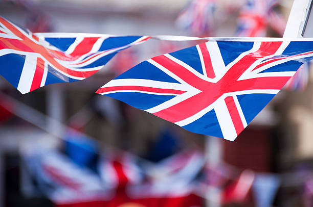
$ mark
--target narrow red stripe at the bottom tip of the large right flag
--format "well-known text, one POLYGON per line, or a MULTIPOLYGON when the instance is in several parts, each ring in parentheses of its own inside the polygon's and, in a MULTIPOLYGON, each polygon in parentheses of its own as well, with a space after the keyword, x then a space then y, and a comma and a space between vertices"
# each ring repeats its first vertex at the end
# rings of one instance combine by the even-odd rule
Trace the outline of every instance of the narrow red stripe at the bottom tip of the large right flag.
POLYGON ((234 97, 233 96, 226 97, 225 102, 226 102, 226 106, 229 111, 229 114, 232 118, 233 124, 235 126, 236 133, 237 135, 239 135, 240 132, 244 130, 244 127, 243 127, 237 106, 235 104, 234 97))

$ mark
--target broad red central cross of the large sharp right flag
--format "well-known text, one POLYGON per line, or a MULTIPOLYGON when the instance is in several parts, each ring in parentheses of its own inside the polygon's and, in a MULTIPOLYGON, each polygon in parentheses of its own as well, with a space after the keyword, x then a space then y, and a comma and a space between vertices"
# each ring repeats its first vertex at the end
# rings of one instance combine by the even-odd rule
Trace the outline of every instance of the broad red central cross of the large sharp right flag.
POLYGON ((282 42, 262 42, 258 51, 248 54, 239 60, 216 84, 199 79, 199 77, 195 76, 192 72, 169 60, 165 56, 152 58, 152 60, 180 76, 188 84, 203 91, 174 106, 153 114, 170 122, 177 122, 210 106, 223 93, 228 93, 234 90, 281 89, 290 77, 258 77, 256 79, 237 81, 242 73, 256 60, 263 58, 264 56, 275 54, 281 43, 282 42), (181 113, 182 111, 184 111, 184 113, 181 113))

